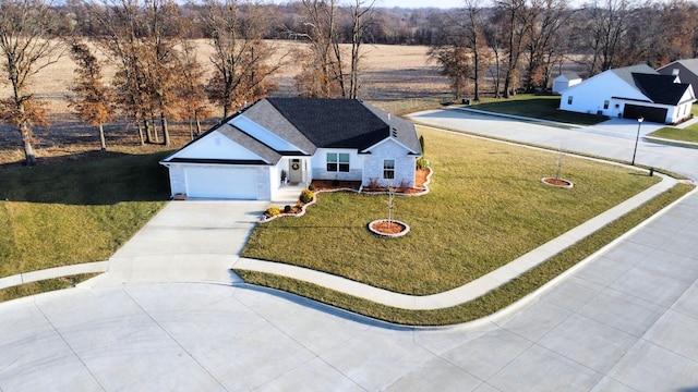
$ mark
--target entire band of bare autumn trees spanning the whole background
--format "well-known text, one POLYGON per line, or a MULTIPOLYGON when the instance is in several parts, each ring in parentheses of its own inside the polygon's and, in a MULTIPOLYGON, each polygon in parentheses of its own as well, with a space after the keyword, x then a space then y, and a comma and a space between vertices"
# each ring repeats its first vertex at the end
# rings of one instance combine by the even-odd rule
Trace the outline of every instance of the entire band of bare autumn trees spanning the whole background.
POLYGON ((495 0, 488 8, 464 0, 452 10, 378 9, 374 0, 48 1, 0 2, 2 78, 12 87, 0 99, 0 121, 16 126, 29 166, 32 126, 48 125, 32 82, 63 56, 77 65, 71 107, 99 130, 103 149, 103 124, 117 113, 136 125, 143 144, 169 145, 170 121, 189 121, 193 137, 210 103, 227 118, 275 91, 269 76, 287 61, 302 65, 299 95, 358 98, 365 44, 430 46, 454 94, 474 99, 485 83, 504 97, 545 88, 569 62, 591 76, 698 57, 698 5, 687 0, 591 0, 577 9, 564 0, 495 0), (213 73, 192 38, 213 47, 213 73), (278 53, 276 39, 306 45, 278 53), (96 51, 117 65, 109 83, 96 51))

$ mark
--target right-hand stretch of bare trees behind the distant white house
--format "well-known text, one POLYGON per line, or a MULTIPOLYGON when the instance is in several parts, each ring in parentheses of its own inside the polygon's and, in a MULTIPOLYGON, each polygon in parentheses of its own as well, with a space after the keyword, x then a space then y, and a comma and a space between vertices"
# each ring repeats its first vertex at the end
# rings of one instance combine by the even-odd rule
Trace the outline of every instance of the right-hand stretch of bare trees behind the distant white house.
POLYGON ((698 57, 698 4, 687 0, 477 0, 449 12, 430 49, 456 96, 480 99, 547 88, 566 64, 589 77, 638 63, 659 68, 698 57))

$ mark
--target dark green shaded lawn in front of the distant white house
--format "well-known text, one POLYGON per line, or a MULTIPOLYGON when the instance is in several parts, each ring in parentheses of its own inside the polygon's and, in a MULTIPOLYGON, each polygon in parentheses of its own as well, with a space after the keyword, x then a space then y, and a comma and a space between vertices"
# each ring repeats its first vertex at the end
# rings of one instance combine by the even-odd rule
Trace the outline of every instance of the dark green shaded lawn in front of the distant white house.
POLYGON ((568 124, 593 125, 607 120, 605 115, 559 110, 557 109, 559 108, 559 96, 521 94, 506 99, 483 99, 480 102, 473 103, 472 107, 474 109, 558 121, 568 124))

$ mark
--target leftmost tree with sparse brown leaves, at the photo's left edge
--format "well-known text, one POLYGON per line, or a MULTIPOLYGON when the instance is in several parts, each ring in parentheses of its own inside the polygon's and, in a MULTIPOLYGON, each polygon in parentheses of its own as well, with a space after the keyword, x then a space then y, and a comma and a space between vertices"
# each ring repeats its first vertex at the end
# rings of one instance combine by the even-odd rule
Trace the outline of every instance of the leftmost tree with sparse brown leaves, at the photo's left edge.
POLYGON ((32 78, 58 61, 64 45, 57 14, 41 0, 0 2, 0 51, 2 70, 12 96, 0 100, 0 120, 16 125, 27 166, 36 163, 32 125, 48 126, 43 103, 29 91, 32 78))

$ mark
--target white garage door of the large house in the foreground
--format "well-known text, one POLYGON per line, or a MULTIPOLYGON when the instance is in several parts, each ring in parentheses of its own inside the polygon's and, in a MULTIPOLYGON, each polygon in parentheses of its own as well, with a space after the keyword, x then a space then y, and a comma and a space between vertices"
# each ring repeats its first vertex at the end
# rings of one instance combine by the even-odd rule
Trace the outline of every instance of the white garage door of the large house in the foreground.
POLYGON ((186 196, 255 200, 257 172, 254 168, 186 168, 186 196))

